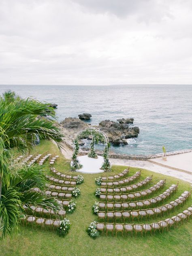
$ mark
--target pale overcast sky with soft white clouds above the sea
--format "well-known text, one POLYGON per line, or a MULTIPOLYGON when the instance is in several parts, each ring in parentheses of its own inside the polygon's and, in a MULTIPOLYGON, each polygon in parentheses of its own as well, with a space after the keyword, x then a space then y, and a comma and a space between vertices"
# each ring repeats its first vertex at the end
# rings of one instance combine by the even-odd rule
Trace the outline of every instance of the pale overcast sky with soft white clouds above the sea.
POLYGON ((0 0, 0 84, 192 84, 192 0, 0 0))

